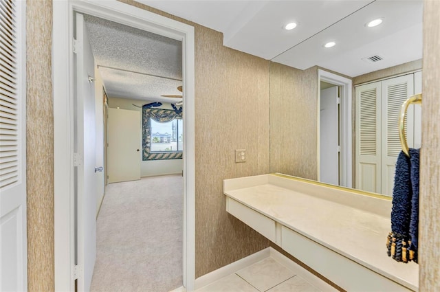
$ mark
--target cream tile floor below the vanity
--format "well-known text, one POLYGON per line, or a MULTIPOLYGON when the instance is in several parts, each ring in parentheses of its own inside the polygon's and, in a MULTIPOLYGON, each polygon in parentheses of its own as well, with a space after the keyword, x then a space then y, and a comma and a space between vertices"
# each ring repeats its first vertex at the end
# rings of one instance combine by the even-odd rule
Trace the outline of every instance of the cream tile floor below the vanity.
POLYGON ((196 292, 320 292, 321 290, 287 269, 274 258, 221 278, 196 292))

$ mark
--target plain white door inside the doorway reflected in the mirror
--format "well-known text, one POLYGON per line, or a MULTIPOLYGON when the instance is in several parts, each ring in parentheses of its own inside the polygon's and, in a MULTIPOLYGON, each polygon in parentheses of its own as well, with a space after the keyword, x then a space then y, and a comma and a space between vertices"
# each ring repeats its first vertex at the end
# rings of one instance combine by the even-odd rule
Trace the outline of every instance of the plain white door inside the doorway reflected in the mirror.
POLYGON ((320 181, 339 185, 338 87, 320 97, 320 181))

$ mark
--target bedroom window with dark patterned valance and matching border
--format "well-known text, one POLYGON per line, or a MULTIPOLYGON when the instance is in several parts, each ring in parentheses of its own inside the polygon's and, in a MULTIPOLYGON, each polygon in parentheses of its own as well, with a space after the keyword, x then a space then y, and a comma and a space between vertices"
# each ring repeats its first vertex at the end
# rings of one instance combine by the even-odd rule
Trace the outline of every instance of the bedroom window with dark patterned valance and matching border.
POLYGON ((181 111, 142 109, 142 160, 181 159, 183 129, 181 111))

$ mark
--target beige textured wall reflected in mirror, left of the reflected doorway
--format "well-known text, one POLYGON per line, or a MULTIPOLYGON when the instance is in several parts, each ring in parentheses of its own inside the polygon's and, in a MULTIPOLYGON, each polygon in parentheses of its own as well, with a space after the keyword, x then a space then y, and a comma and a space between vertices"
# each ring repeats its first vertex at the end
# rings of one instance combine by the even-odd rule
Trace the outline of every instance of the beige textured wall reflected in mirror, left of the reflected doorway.
POLYGON ((270 65, 270 172, 318 176, 318 68, 270 65))

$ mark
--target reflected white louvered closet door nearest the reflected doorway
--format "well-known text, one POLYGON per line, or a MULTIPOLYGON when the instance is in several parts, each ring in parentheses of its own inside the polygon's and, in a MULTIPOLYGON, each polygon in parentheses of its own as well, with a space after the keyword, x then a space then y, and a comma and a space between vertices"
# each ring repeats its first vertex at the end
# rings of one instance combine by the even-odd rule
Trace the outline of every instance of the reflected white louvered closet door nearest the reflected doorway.
POLYGON ((381 187, 380 93, 380 82, 362 85, 355 90, 356 188, 369 192, 380 192, 381 187))

